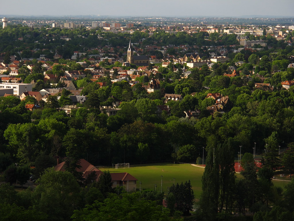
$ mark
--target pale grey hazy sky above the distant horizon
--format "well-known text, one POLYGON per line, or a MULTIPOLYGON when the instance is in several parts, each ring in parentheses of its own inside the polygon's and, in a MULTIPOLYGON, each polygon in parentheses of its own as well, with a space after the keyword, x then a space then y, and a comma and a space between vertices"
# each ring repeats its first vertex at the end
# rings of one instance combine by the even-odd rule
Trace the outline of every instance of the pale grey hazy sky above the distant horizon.
POLYGON ((1 0, 0 15, 293 16, 294 0, 1 0))

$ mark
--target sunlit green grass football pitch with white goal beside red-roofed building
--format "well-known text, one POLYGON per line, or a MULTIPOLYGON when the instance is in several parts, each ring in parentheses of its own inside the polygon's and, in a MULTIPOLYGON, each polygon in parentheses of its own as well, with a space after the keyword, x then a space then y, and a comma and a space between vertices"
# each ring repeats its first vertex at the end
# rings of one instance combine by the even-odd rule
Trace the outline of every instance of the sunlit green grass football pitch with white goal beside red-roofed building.
POLYGON ((162 176, 162 190, 167 192, 167 187, 173 185, 173 178, 175 184, 181 182, 191 181, 192 189, 196 199, 200 199, 201 194, 201 178, 204 168, 192 166, 191 164, 142 164, 130 165, 130 168, 98 168, 101 171, 109 170, 110 172, 128 172, 133 177, 138 179, 137 188, 139 188, 139 181, 142 182, 141 189, 153 190, 154 184, 157 184, 156 189, 161 189, 162 176), (164 169, 164 171, 163 171, 164 169))

